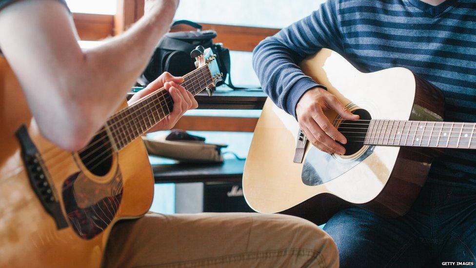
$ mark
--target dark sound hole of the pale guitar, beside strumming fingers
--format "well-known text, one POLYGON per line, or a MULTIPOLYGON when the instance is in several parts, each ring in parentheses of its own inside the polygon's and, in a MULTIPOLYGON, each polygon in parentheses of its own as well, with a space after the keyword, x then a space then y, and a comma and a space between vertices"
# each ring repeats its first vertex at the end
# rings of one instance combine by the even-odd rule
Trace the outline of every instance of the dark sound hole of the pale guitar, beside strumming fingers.
POLYGON ((353 113, 360 116, 358 121, 344 120, 337 128, 347 138, 347 144, 342 144, 345 148, 344 155, 353 155, 363 147, 365 134, 372 119, 369 112, 364 109, 357 109, 353 113))

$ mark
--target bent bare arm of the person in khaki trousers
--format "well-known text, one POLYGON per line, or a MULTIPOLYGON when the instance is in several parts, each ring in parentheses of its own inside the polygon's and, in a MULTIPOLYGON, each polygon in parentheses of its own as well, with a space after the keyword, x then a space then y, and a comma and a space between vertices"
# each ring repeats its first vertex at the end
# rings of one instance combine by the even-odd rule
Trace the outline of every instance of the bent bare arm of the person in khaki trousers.
POLYGON ((42 134, 68 150, 86 145, 145 68, 177 5, 147 0, 134 26, 87 51, 57 1, 23 0, 1 10, 0 47, 42 134))

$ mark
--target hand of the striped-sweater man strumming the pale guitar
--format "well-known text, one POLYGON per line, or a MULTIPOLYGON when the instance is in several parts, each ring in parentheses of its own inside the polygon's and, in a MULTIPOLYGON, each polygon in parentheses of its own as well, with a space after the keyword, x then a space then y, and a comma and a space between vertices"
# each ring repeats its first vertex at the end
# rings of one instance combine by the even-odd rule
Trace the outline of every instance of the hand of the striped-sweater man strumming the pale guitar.
POLYGON ((347 120, 358 119, 358 115, 352 114, 334 95, 323 88, 316 87, 304 93, 296 105, 299 127, 309 141, 321 151, 342 155, 345 149, 336 141, 346 144, 347 139, 324 115, 323 110, 327 109, 336 111, 347 120))

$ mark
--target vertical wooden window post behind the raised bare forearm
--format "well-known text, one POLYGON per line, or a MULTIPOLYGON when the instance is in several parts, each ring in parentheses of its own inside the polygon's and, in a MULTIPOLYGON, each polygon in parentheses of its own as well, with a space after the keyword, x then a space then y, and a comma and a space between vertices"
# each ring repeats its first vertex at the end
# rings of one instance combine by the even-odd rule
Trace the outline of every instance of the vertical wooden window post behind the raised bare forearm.
POLYGON ((144 0, 117 0, 114 33, 120 34, 144 15, 144 0))

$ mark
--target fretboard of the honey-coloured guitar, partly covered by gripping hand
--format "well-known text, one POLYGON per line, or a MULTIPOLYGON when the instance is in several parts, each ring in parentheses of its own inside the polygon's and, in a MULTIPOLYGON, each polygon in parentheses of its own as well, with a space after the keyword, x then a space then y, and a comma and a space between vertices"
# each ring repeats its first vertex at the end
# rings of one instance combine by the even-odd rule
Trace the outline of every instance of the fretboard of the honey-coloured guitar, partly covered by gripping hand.
MULTIPOLYGON (((208 66, 200 67, 183 78, 184 82, 181 85, 194 96, 212 83, 208 66)), ((172 111, 173 106, 172 97, 165 88, 161 88, 111 116, 106 127, 114 139, 116 149, 122 149, 145 134, 164 119, 172 111)))

